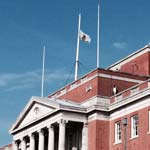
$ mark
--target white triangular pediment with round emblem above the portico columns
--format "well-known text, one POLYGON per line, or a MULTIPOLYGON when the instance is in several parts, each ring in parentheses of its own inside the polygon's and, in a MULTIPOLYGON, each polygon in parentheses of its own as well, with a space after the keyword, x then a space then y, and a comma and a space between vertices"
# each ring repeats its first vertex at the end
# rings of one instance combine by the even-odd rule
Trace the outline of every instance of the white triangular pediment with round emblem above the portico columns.
POLYGON ((30 125, 59 109, 59 104, 48 98, 32 97, 20 113, 10 132, 30 125))

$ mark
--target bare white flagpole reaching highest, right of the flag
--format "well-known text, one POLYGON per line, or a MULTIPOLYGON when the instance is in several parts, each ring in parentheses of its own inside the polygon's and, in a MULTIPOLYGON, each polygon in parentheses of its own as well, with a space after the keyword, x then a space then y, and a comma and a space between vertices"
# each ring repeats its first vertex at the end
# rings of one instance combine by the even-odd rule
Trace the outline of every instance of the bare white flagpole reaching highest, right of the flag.
POLYGON ((99 68, 99 35, 100 35, 100 11, 99 11, 100 7, 98 4, 98 18, 97 18, 97 68, 99 68))

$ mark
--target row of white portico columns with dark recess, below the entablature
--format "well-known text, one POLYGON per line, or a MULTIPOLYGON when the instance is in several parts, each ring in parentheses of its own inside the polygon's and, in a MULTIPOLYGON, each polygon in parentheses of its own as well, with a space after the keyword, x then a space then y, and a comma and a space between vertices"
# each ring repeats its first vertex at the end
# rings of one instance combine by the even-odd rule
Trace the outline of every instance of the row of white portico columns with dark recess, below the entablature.
POLYGON ((14 150, 72 150, 85 147, 86 126, 61 120, 13 141, 14 150), (82 134, 84 132, 84 134, 82 134))

